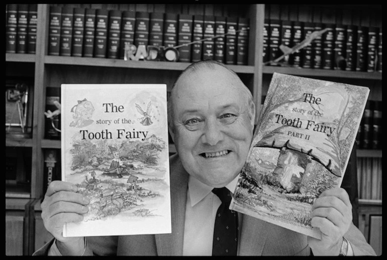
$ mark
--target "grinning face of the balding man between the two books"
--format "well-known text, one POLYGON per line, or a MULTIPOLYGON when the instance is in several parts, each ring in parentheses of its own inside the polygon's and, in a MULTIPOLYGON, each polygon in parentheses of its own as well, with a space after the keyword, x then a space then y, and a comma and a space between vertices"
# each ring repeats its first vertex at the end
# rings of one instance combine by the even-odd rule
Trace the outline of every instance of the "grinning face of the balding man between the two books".
POLYGON ((171 135, 181 162, 191 176, 217 188, 238 175, 253 134, 254 105, 235 82, 223 67, 202 70, 184 76, 173 96, 171 135))

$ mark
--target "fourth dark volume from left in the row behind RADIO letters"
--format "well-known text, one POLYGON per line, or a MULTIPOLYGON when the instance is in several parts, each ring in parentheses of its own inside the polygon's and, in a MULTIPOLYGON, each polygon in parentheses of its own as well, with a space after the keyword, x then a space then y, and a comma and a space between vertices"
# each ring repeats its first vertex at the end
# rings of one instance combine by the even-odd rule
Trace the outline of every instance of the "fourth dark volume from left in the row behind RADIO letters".
POLYGON ((95 38, 95 9, 87 8, 84 16, 83 57, 92 57, 95 38))

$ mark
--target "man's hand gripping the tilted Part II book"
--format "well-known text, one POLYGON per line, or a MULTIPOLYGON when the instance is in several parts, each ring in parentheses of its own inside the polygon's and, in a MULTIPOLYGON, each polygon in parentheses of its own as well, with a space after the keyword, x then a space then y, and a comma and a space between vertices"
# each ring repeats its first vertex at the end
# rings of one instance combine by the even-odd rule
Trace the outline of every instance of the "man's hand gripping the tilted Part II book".
POLYGON ((343 235, 352 222, 352 205, 342 188, 324 191, 315 201, 311 225, 320 228, 321 240, 308 236, 314 255, 339 255, 343 235))

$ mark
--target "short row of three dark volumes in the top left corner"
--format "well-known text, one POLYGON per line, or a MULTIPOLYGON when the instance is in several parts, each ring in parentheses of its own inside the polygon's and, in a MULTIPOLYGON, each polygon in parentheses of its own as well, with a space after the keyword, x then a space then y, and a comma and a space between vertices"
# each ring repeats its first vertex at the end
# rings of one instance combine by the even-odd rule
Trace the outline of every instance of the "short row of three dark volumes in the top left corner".
POLYGON ((37 4, 6 6, 6 53, 36 53, 37 4))

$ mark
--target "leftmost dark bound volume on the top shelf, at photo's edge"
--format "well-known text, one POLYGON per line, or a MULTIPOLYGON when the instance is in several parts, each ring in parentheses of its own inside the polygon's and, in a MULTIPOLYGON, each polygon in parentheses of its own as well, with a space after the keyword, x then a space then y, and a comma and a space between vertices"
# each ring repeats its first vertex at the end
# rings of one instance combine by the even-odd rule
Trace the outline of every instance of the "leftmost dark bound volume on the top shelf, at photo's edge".
POLYGON ((16 36, 18 30, 18 5, 7 5, 6 52, 16 53, 16 36))

